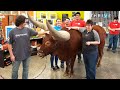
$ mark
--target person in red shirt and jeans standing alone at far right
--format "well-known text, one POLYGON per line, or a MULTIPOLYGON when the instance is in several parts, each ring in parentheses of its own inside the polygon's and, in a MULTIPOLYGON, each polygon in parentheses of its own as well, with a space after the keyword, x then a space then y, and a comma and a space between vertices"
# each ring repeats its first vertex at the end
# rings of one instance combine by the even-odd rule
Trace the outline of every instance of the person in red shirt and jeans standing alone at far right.
POLYGON ((110 51, 110 49, 112 48, 112 52, 115 53, 120 30, 120 23, 118 22, 118 17, 114 17, 113 22, 109 23, 108 29, 109 29, 109 45, 107 51, 110 51))

